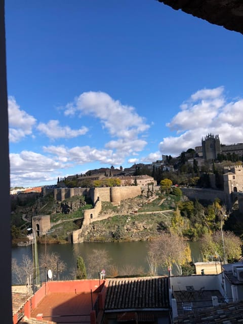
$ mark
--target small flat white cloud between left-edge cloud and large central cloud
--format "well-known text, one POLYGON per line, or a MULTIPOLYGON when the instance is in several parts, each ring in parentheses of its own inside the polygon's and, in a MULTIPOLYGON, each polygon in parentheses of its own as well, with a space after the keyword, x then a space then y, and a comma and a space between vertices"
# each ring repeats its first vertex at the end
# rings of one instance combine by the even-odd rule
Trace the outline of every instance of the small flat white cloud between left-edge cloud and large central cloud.
POLYGON ((69 126, 61 127, 58 120, 49 120, 47 124, 39 123, 37 129, 51 139, 73 138, 88 132, 87 127, 78 130, 72 130, 69 126))

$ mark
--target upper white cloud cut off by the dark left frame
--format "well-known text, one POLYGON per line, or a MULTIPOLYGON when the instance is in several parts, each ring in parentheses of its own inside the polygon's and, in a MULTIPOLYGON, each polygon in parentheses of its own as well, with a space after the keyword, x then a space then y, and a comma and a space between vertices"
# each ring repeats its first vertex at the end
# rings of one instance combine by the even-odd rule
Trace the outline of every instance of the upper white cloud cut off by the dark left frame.
POLYGON ((24 110, 21 110, 14 97, 9 97, 8 99, 8 113, 10 142, 19 142, 26 135, 32 134, 32 128, 36 123, 36 119, 24 110))

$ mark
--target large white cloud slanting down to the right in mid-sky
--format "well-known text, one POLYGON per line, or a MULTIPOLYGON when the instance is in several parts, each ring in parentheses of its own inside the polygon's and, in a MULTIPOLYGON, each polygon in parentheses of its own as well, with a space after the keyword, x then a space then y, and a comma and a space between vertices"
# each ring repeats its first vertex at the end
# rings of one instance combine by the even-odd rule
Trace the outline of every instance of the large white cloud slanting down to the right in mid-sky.
POLYGON ((135 108, 121 104, 104 92, 85 92, 66 105, 65 115, 91 115, 101 120, 111 136, 133 139, 149 129, 135 108))

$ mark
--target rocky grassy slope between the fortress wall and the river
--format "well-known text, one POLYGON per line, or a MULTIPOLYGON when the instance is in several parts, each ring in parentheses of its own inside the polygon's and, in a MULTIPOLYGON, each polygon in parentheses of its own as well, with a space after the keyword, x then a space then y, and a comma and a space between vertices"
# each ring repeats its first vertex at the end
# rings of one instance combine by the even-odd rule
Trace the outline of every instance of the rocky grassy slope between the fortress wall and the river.
POLYGON ((102 203, 101 220, 85 229, 85 241, 138 241, 156 237, 170 227, 178 197, 154 198, 148 201, 141 195, 121 201, 117 207, 102 203), (102 220, 107 215, 110 217, 102 220))

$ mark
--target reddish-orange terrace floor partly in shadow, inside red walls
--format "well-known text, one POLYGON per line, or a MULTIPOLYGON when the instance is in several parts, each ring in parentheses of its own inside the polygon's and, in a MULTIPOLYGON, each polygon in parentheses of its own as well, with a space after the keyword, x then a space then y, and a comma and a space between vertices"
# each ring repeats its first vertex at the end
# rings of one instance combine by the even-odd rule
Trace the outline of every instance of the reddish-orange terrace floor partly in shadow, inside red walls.
MULTIPOLYGON (((98 293, 93 293, 93 304, 98 293)), ((49 293, 38 306, 31 312, 31 317, 42 313, 43 319, 52 320, 56 323, 80 323, 90 322, 90 311, 92 310, 91 293, 49 293), (88 316, 64 316, 55 315, 84 315, 88 316), (50 316, 50 317, 45 317, 50 316)))

